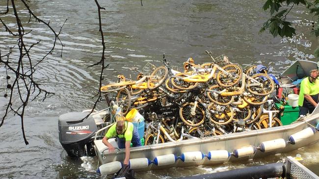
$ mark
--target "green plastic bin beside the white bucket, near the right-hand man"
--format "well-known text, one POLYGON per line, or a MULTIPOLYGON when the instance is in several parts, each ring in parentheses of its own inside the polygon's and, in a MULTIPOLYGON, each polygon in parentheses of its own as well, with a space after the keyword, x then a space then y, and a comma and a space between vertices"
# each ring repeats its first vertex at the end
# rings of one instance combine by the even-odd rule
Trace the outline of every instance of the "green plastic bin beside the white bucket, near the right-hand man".
MULTIPOLYGON (((276 109, 279 109, 282 104, 275 103, 276 109)), ((284 106, 283 115, 278 115, 277 117, 281 120, 283 125, 289 125, 294 122, 299 117, 299 107, 292 107, 289 105, 284 106)))

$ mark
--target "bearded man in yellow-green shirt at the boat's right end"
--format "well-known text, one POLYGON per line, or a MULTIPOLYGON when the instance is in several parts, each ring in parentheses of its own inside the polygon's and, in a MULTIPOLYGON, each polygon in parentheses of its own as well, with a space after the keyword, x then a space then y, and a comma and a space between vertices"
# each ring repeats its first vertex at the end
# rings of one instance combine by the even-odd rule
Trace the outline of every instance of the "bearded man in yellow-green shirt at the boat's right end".
POLYGON ((319 72, 316 69, 310 71, 310 76, 304 78, 300 83, 299 92, 299 116, 312 113, 318 106, 319 96, 319 72))

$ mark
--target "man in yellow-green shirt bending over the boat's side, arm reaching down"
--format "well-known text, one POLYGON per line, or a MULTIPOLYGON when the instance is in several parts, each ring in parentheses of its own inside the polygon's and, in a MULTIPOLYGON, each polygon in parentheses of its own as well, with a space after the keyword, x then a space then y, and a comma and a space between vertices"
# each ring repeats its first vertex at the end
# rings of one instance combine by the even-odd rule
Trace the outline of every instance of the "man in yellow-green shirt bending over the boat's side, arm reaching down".
POLYGON ((128 165, 130 159, 131 142, 133 147, 141 146, 138 131, 132 122, 118 120, 107 131, 102 142, 108 147, 108 152, 114 152, 114 147, 107 140, 116 137, 117 145, 120 149, 125 148, 125 159, 123 164, 128 165))

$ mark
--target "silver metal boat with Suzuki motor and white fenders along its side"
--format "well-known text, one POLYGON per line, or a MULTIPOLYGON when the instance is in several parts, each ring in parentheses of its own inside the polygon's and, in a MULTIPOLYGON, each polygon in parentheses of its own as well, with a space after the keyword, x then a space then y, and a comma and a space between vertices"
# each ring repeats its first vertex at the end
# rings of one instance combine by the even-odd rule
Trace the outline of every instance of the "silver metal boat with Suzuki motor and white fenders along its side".
MULTIPOLYGON (((314 67, 317 63, 312 61, 295 61, 281 74, 281 86, 294 86, 292 81, 309 76, 314 67)), ((101 136, 111 126, 102 120, 108 115, 108 110, 95 111, 83 120, 86 112, 72 112, 59 117, 60 142, 69 156, 96 154, 101 163, 98 171, 105 175, 115 173, 122 167, 125 149, 109 153, 102 143, 101 136)), ((287 153, 319 140, 316 128, 319 122, 318 107, 313 113, 293 121, 279 127, 132 147, 130 167, 138 172, 237 162, 287 153)), ((114 139, 109 139, 109 142, 117 148, 114 139)))

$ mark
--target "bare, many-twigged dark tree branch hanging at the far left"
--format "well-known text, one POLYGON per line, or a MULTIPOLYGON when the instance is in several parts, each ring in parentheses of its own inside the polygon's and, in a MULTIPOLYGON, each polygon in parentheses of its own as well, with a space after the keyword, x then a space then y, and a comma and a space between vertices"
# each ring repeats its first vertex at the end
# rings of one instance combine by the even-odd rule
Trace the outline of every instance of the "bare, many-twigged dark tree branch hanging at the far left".
MULTIPOLYGON (((13 16, 15 17, 15 24, 16 27, 9 29, 8 26, 6 25, 6 22, 4 19, 0 18, 0 21, 2 25, 4 26, 5 30, 9 32, 12 37, 17 39, 17 47, 10 47, 9 52, 5 55, 1 56, 1 51, 0 51, 0 64, 4 64, 4 67, 7 70, 10 71, 10 74, 14 74, 15 77, 13 79, 12 85, 9 83, 10 76, 7 73, 7 90, 10 93, 9 97, 9 102, 6 106, 5 113, 2 116, 2 121, 0 123, 0 127, 3 125, 5 118, 8 115, 8 112, 12 111, 14 115, 18 115, 21 118, 21 128, 22 128, 22 133, 23 133, 23 138, 26 144, 28 144, 27 137, 25 134, 25 127, 24 127, 24 115, 26 111, 26 106, 30 100, 31 94, 37 91, 37 94, 31 99, 31 101, 35 100, 41 93, 44 93, 44 98, 43 100, 46 99, 46 97, 49 94, 54 94, 53 92, 49 92, 47 90, 42 89, 39 83, 37 83, 33 77, 35 67, 42 62, 44 59, 47 58, 49 54, 53 53, 53 50, 55 48, 56 42, 59 42, 62 46, 61 48, 61 56, 62 56, 62 49, 63 49, 63 44, 59 38, 59 35, 61 34, 63 25, 60 27, 59 31, 56 32, 53 27, 50 25, 50 22, 44 22, 40 18, 38 18, 32 10, 29 8, 27 4, 27 0, 20 0, 23 3, 23 6, 20 8, 26 8, 29 13, 29 20, 26 23, 31 22, 32 19, 35 19, 35 22, 40 22, 42 24, 45 24, 50 31, 54 35, 54 41, 53 41, 53 47, 49 50, 49 52, 46 52, 46 54, 40 59, 39 62, 37 62, 34 66, 32 64, 32 55, 30 54, 30 50, 32 47, 39 45, 41 41, 38 41, 36 43, 33 43, 31 45, 25 44, 24 41, 24 36, 31 33, 32 30, 25 32, 24 30, 24 23, 20 20, 19 17, 19 12, 16 8, 15 2, 17 0, 11 0, 11 4, 9 5, 9 0, 7 1, 7 10, 4 13, 1 14, 8 14, 9 9, 12 9, 13 16), (10 8, 9 8, 10 6, 10 8), (17 32, 16 32, 17 31, 17 32), (12 53, 13 49, 17 49, 19 52, 19 58, 17 59, 10 59, 10 54, 12 53), (11 62, 12 61, 12 62, 11 62), (17 97, 15 97, 17 95, 17 97), (13 102, 13 99, 14 102, 13 102), (14 104, 15 103, 15 104, 14 104), (18 107, 17 107, 18 106, 18 107)), ((9 22, 12 23, 12 22, 9 22)), ((4 97, 7 97, 8 94, 4 95, 4 97)))

